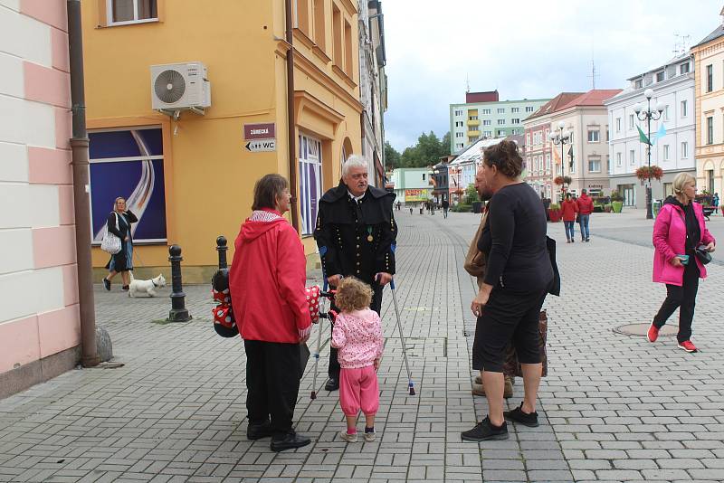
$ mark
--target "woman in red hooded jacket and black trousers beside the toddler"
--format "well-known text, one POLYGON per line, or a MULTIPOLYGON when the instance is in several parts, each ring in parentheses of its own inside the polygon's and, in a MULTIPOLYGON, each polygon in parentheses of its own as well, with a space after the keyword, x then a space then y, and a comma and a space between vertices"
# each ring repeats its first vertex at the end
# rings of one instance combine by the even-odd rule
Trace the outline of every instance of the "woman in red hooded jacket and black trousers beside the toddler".
POLYGON ((271 450, 310 444, 291 428, 300 389, 300 343, 310 338, 306 259, 297 231, 281 215, 289 185, 265 175, 254 186, 252 216, 234 242, 229 289, 246 352, 246 437, 271 436, 271 450), (271 419, 270 419, 271 416, 271 419))

